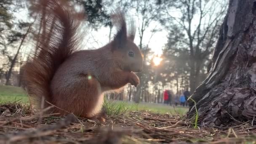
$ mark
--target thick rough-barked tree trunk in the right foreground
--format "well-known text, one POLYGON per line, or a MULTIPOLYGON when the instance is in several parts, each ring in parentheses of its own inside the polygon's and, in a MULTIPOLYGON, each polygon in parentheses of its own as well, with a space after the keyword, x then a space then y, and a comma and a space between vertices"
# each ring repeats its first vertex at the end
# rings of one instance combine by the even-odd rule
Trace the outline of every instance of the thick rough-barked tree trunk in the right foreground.
MULTIPOLYGON (((255 37, 256 0, 230 0, 209 75, 191 96, 202 126, 231 125, 256 116, 255 37)), ((189 105, 187 116, 194 119, 191 100, 189 105)))

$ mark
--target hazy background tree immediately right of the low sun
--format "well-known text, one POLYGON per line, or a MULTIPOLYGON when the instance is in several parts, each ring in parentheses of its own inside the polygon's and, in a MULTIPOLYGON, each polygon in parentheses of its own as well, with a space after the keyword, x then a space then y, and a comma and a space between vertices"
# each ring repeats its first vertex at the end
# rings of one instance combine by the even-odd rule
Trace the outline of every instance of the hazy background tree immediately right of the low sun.
POLYGON ((163 76, 168 81, 175 83, 176 92, 188 88, 186 82, 189 79, 189 51, 184 47, 182 40, 185 35, 181 29, 173 27, 168 35, 168 41, 163 49, 164 71, 163 76), (185 84, 186 83, 186 84, 185 84))

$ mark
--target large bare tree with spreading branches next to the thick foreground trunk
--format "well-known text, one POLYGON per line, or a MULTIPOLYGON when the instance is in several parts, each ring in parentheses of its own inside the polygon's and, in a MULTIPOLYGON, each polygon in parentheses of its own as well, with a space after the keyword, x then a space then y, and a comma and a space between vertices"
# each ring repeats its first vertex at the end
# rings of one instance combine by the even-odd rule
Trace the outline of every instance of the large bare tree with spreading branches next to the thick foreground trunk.
MULTIPOLYGON (((181 47, 189 51, 190 89, 200 83, 200 71, 213 51, 220 22, 226 11, 225 1, 219 0, 164 0, 162 24, 168 29, 179 29, 184 34, 181 47)), ((179 34, 179 33, 178 33, 179 34)), ((174 34, 175 35, 175 34, 174 34)))

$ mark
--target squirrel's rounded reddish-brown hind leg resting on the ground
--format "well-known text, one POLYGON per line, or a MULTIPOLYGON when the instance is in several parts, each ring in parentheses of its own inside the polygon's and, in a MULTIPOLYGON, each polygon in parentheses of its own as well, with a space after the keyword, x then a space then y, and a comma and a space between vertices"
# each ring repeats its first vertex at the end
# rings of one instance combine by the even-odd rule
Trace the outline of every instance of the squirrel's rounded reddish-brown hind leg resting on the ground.
MULTIPOLYGON (((61 85, 61 80, 59 84, 61 85)), ((100 83, 96 78, 88 75, 75 77, 73 83, 64 91, 53 89, 53 95, 56 106, 85 118, 94 117, 99 113, 104 102, 100 83)), ((61 109, 58 111, 63 113, 61 109)))

